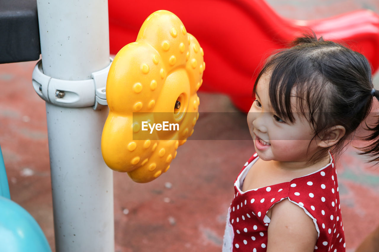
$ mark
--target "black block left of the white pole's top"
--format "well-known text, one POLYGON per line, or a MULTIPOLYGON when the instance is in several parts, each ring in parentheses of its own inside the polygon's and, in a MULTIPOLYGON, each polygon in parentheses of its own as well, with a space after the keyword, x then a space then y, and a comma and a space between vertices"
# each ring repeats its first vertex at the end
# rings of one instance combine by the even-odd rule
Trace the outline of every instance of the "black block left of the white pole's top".
POLYGON ((41 54, 36 0, 0 0, 0 63, 35 61, 41 54))

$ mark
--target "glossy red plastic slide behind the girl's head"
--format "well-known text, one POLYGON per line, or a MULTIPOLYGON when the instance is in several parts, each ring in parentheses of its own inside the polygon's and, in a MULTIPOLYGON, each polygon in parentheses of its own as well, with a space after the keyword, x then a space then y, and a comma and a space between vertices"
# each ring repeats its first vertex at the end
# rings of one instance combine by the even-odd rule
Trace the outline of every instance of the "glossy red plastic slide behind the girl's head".
POLYGON ((109 0, 111 53, 134 42, 144 20, 159 9, 175 13, 202 45, 207 73, 200 90, 226 93, 244 112, 265 57, 309 29, 363 53, 374 72, 379 66, 379 16, 373 11, 300 21, 280 17, 263 0, 109 0))

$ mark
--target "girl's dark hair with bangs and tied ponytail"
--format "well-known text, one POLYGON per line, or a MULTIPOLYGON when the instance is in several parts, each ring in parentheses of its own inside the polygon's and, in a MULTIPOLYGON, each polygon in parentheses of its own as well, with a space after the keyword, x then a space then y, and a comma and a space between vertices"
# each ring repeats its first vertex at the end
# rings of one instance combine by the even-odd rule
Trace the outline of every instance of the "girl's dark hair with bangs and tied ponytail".
MULTIPOLYGON (((313 126, 315 136, 335 125, 345 127, 346 133, 331 147, 339 153, 354 136, 354 131, 370 113, 373 96, 370 64, 362 54, 337 44, 317 39, 315 33, 294 40, 294 46, 268 58, 254 84, 269 73, 269 99, 277 116, 295 121, 291 96, 296 93, 298 107, 313 126)), ((379 97, 376 91, 374 96, 379 97)), ((379 124, 379 121, 378 121, 379 124)), ((365 140, 379 137, 379 125, 365 140)), ((367 125, 366 125, 367 126, 367 125)), ((320 152, 324 155, 328 149, 320 152)), ((379 162, 379 141, 363 148, 370 161, 379 162)))

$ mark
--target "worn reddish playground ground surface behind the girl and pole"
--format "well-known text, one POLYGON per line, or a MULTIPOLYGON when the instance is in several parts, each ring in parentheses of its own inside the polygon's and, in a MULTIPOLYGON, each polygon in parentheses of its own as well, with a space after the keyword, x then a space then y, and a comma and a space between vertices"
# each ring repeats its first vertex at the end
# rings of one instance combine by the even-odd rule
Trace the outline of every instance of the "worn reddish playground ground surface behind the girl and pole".
MULTIPOLYGON (((359 8, 379 13, 376 0, 268 2, 293 19, 320 19, 359 8)), ((36 219, 54 251, 45 102, 31 85, 35 64, 0 65, 0 144, 11 198, 36 219)), ((379 88, 379 78, 374 85, 379 88)), ((225 115, 230 116, 233 128, 220 123, 216 131, 221 140, 189 138, 179 147, 169 171, 148 184, 136 184, 127 174, 114 172, 116 252, 221 250, 233 181, 254 146, 246 115, 238 112, 227 96, 199 92, 199 97, 200 111, 228 113, 200 117, 195 132, 205 131, 211 121, 225 120, 225 115), (239 140, 225 140, 226 136, 239 140)), ((338 160, 337 171, 350 252, 379 225, 379 168, 365 163, 349 147, 338 160)))

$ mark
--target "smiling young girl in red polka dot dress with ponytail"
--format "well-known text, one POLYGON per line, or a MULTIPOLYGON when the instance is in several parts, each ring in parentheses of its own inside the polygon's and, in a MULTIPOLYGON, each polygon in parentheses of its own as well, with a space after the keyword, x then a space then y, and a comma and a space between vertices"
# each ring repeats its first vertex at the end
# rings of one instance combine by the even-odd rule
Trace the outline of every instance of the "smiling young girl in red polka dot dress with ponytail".
MULTIPOLYGON (((345 251, 335 161, 368 116, 371 69, 313 34, 268 59, 247 123, 256 153, 234 183, 223 251, 345 251)), ((366 140, 374 140, 379 126, 366 140)), ((363 149, 378 161, 374 142, 363 149)))

